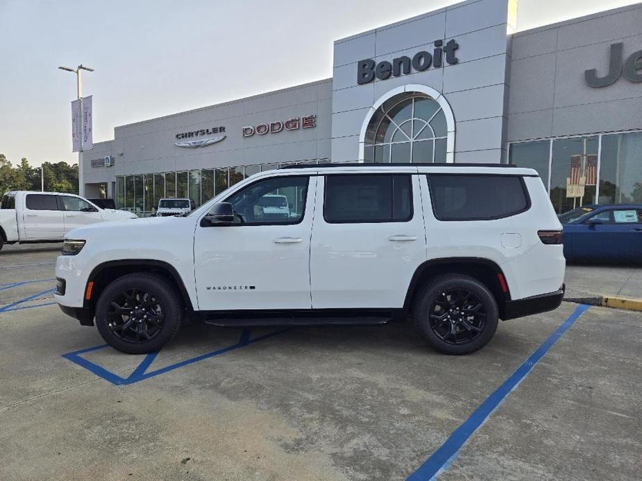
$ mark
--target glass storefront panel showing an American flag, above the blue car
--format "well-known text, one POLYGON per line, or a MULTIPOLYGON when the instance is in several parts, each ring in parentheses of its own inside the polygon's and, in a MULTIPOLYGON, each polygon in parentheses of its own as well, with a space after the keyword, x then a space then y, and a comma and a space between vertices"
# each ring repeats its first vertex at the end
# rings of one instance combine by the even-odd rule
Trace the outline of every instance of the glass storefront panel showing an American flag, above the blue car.
POLYGON ((553 140, 550 200, 557 213, 595 203, 598 137, 553 140))

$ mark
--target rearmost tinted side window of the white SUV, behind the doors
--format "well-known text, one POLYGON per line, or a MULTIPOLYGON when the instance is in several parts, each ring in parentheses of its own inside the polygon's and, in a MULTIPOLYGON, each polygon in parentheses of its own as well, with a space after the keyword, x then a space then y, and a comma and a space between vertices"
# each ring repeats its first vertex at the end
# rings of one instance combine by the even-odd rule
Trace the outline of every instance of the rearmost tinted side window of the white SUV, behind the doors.
POLYGON ((430 197, 439 220, 491 220, 530 207, 522 177, 515 175, 430 174, 430 197))

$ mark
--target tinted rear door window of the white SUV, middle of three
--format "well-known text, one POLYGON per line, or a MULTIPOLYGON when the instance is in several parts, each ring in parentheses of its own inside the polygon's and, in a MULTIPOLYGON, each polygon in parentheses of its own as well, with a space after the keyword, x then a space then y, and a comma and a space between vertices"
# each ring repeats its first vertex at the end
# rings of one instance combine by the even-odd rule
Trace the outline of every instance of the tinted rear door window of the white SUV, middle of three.
POLYGON ((410 175, 326 175, 323 217, 331 224, 407 222, 412 219, 410 175))

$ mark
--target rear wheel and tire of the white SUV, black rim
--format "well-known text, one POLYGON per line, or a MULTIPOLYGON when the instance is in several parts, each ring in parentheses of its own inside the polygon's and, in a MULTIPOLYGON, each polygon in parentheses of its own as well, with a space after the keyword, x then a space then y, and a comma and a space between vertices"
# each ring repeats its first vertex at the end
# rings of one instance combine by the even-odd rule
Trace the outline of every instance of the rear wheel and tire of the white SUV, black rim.
POLYGON ((495 297, 477 279, 445 274, 421 290, 413 308, 416 328, 435 350, 469 354, 484 347, 498 324, 495 297))

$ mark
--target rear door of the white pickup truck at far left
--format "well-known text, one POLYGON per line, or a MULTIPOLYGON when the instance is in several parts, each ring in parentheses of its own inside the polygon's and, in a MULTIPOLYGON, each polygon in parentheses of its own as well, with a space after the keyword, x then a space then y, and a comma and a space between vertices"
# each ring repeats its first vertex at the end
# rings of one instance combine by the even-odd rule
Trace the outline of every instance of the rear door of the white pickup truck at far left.
POLYGON ((29 241, 61 239, 64 219, 55 194, 28 193, 24 199, 22 231, 29 241))

